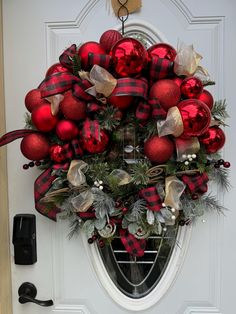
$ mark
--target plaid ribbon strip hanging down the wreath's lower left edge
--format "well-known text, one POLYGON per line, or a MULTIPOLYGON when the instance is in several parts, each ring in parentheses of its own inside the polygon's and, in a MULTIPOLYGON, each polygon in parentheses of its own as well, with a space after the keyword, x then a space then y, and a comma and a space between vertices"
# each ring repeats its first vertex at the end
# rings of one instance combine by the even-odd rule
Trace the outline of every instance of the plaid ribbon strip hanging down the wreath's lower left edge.
POLYGON ((56 206, 48 206, 48 204, 41 203, 40 200, 45 196, 47 191, 50 189, 52 182, 56 179, 56 176, 51 175, 52 169, 48 168, 45 170, 34 183, 34 200, 36 210, 52 219, 56 220, 56 215, 60 212, 60 209, 56 206))

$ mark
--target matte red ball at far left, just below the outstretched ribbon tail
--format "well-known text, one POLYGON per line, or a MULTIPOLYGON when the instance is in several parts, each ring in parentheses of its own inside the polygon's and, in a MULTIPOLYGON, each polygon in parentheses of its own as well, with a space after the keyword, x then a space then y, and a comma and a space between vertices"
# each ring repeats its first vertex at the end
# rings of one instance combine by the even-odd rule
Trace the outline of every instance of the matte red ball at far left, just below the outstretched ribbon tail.
POLYGON ((30 160, 41 160, 49 154, 49 141, 46 136, 39 133, 26 135, 21 141, 22 154, 30 160))

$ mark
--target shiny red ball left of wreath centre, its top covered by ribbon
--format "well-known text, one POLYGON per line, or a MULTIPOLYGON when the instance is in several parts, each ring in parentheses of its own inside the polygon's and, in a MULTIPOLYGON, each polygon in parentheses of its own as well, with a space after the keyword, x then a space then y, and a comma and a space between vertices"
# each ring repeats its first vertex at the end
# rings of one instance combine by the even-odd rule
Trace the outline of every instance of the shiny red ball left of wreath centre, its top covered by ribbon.
POLYGON ((90 136, 88 139, 82 138, 81 144, 82 148, 91 154, 99 154, 106 150, 109 137, 103 130, 100 131, 100 141, 90 136))

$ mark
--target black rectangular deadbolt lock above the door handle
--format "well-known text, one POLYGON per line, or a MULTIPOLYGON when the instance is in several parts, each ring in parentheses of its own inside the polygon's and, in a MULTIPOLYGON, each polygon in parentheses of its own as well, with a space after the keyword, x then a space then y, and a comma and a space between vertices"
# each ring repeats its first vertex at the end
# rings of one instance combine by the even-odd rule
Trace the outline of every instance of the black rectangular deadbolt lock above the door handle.
POLYGON ((18 214, 13 221, 15 264, 32 265, 37 262, 36 217, 31 214, 18 214))

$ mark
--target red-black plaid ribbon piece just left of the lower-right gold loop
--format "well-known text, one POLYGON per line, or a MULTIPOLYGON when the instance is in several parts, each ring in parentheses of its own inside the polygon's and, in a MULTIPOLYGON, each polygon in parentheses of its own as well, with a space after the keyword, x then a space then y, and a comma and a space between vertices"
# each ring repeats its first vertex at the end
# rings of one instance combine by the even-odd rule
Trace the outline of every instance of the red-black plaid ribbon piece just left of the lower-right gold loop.
POLYGON ((154 212, 160 211, 162 208, 162 200, 155 186, 140 190, 139 197, 143 198, 147 202, 147 208, 154 212))

